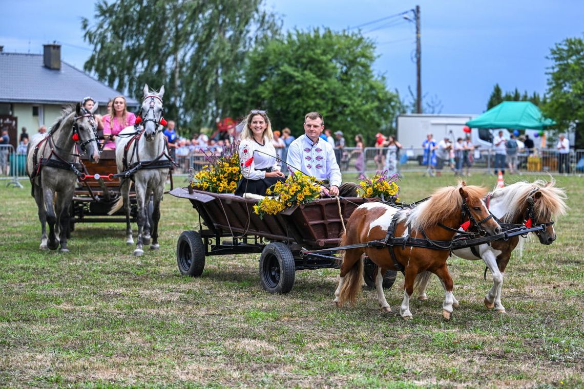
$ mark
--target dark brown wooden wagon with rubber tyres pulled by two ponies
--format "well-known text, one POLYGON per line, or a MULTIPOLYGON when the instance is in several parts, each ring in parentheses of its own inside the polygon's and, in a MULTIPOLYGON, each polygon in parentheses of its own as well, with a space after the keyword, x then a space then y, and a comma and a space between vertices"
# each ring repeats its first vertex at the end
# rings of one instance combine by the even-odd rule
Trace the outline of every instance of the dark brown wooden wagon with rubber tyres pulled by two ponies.
MULTIPOLYGON (((340 257, 331 251, 305 253, 304 250, 334 248, 340 244, 342 223, 365 198, 317 199, 260 219, 253 213, 256 200, 232 194, 215 194, 187 188, 170 192, 187 198, 199 213, 199 230, 180 234, 176 259, 181 274, 200 276, 210 255, 261 253, 260 282, 272 293, 290 292, 295 272, 303 269, 339 268, 340 257)), ((365 261, 364 278, 374 285, 376 266, 365 261)), ((390 288, 396 273, 385 274, 390 288)))

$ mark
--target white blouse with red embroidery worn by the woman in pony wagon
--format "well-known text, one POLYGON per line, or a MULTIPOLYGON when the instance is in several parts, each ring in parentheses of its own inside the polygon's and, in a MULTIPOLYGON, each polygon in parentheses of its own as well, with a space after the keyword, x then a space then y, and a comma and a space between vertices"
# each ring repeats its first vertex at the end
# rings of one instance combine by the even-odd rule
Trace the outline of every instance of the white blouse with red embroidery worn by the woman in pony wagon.
POLYGON ((259 169, 269 167, 272 168, 272 171, 280 170, 276 160, 276 149, 267 136, 263 137, 263 146, 255 139, 243 139, 239 143, 239 170, 241 170, 242 176, 248 180, 260 180, 266 177, 266 172, 259 169), (256 150, 258 152, 255 152, 256 150), (251 164, 245 166, 251 157, 253 157, 251 164))

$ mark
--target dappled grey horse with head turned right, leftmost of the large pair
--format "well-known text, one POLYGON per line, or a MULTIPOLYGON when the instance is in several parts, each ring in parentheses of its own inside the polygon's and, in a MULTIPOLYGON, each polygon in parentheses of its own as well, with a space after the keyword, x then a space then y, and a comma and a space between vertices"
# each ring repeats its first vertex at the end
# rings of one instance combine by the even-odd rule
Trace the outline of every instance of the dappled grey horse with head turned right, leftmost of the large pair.
POLYGON ((62 252, 69 251, 69 208, 75 180, 83 171, 75 142, 79 142, 79 147, 88 154, 91 162, 99 162, 97 124, 93 116, 97 109, 97 103, 91 111, 79 103, 75 107, 65 107, 47 136, 34 136, 29 143, 26 174, 30 177, 32 196, 39 208, 40 248, 43 250, 57 250, 61 244, 62 252))

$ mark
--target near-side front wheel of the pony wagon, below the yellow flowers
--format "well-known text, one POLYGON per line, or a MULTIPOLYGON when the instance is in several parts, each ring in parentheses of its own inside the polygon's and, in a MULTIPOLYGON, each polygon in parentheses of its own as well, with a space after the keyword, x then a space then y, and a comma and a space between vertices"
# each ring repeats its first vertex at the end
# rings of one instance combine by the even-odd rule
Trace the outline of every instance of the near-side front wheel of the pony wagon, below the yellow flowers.
POLYGON ((296 277, 296 264, 286 244, 274 242, 263 248, 259 276, 263 289, 268 292, 281 295, 290 292, 296 277))

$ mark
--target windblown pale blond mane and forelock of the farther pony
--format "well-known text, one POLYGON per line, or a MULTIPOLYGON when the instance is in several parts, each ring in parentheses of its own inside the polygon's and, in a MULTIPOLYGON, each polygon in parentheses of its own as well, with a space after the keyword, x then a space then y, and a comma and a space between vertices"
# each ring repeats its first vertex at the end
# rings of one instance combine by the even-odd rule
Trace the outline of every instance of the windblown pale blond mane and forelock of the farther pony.
POLYGON ((523 218, 523 205, 527 197, 537 191, 541 192, 541 197, 534 207, 537 220, 551 220, 566 214, 568 206, 565 200, 568 196, 563 188, 555 186, 553 177, 549 183, 543 180, 536 180, 533 183, 519 181, 504 188, 496 188, 492 192, 492 198, 501 198, 507 205, 508 211, 501 218, 503 222, 514 223, 523 218))

